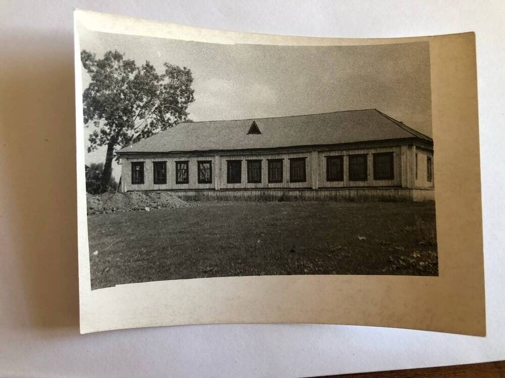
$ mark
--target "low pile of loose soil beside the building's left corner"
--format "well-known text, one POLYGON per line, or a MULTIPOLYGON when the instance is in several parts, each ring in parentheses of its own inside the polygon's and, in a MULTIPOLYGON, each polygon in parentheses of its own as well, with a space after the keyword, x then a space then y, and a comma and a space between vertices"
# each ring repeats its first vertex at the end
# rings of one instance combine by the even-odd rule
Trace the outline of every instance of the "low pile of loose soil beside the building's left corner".
POLYGON ((195 206, 194 203, 183 201, 169 192, 87 194, 86 202, 88 215, 195 206))

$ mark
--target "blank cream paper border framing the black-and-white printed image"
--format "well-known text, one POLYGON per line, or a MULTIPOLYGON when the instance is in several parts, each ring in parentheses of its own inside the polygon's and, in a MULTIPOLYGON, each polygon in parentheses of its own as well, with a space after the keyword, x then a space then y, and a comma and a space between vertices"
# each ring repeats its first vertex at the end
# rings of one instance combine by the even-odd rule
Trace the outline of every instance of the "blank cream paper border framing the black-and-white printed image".
POLYGON ((81 332, 210 323, 322 323, 485 334, 475 38, 246 34, 76 11, 76 138, 81 332), (360 46, 428 42, 438 276, 196 278, 91 290, 84 185, 80 33, 219 44, 360 46))

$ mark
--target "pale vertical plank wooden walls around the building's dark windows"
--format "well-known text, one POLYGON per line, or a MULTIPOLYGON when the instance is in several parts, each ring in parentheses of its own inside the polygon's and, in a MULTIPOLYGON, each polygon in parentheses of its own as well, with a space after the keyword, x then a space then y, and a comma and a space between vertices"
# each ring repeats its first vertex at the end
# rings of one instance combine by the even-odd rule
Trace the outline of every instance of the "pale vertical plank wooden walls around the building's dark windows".
POLYGON ((239 152, 229 152, 226 154, 212 155, 210 153, 195 155, 178 154, 177 156, 167 154, 156 156, 128 156, 121 159, 122 166, 122 185, 123 192, 126 191, 144 191, 144 190, 259 190, 259 189, 304 189, 304 188, 359 188, 359 187, 404 187, 404 188, 432 188, 433 181, 426 180, 426 156, 432 156, 432 152, 416 147, 414 145, 396 145, 381 146, 360 149, 335 149, 318 148, 313 151, 302 150, 299 152, 258 152, 249 154, 240 154, 239 152), (393 171, 392 179, 375 180, 373 154, 381 152, 393 153, 393 171), (415 179, 415 154, 418 153, 418 179, 415 179), (367 155, 367 179, 363 181, 351 181, 348 174, 348 156, 355 154, 367 155), (326 179, 326 157, 343 156, 343 180, 328 181, 326 179), (290 182, 289 159, 306 159, 306 181, 290 182), (282 182, 268 182, 268 160, 283 160, 282 182), (212 161, 212 182, 198 183, 197 162, 200 160, 212 161), (241 160, 241 182, 227 182, 227 160, 241 160), (247 182, 247 160, 261 160, 262 179, 261 182, 247 182), (144 183, 131 184, 131 162, 144 162, 144 183), (167 183, 155 184, 153 177, 153 162, 167 162, 167 183), (175 162, 189 161, 189 182, 186 184, 176 184, 175 181, 175 162))

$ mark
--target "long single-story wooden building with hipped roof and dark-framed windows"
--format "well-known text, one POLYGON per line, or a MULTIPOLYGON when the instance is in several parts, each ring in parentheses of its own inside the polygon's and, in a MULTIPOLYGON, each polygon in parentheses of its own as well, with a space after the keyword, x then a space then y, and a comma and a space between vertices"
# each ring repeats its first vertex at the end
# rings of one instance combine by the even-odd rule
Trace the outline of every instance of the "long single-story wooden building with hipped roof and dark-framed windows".
POLYGON ((434 200, 433 140, 377 109, 185 122, 118 154, 123 192, 434 200))

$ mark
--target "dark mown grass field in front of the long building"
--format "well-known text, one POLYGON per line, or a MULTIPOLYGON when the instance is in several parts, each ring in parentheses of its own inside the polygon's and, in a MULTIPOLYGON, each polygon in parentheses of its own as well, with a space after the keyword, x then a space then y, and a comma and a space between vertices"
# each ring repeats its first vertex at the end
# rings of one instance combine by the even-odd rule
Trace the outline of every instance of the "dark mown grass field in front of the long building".
POLYGON ((200 202, 88 216, 91 287, 199 277, 437 275, 435 205, 200 202))

